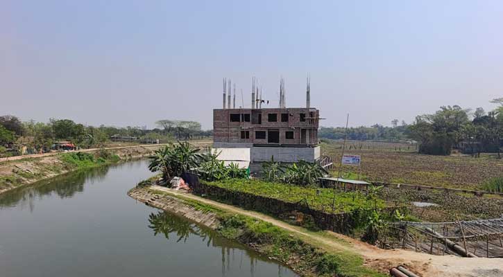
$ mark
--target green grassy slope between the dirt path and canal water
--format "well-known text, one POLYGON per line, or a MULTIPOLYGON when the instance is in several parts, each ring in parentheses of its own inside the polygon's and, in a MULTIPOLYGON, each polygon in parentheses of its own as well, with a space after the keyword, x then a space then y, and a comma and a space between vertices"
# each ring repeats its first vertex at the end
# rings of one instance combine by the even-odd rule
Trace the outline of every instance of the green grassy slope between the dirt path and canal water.
MULTIPOLYGON (((148 181, 144 184, 148 184, 148 181)), ((151 190, 151 192, 163 194, 159 190, 151 190)), ((173 195, 170 196, 173 197, 173 195)), ((185 197, 178 198, 200 211, 214 213, 221 222, 216 231, 225 238, 246 244, 264 256, 288 265, 302 276, 386 276, 365 267, 364 259, 357 253, 343 249, 330 249, 323 244, 302 238, 297 233, 291 233, 254 217, 230 213, 185 197)), ((325 235, 323 231, 302 230, 325 235)), ((347 244, 342 240, 337 242, 347 244)))

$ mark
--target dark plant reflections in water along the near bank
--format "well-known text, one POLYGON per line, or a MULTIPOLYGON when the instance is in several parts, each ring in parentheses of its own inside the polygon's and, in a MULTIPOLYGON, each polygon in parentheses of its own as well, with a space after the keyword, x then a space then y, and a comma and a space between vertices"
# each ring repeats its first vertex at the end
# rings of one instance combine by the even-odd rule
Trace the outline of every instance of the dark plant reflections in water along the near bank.
MULTIPOLYGON (((258 253, 254 251, 246 251, 244 247, 240 244, 227 240, 221 235, 216 234, 211 229, 198 226, 189 220, 186 220, 177 215, 172 215, 167 212, 151 213, 148 216, 148 222, 150 225, 148 227, 154 231, 154 235, 163 234, 168 240, 176 239, 176 242, 187 242, 190 235, 196 235, 206 242, 207 247, 216 247, 221 250, 221 266, 222 266, 222 276, 226 275, 226 272, 230 271, 230 265, 235 264, 239 258, 239 269, 243 267, 244 254, 250 259, 250 276, 255 276, 255 268, 257 267, 258 261, 268 261, 266 258, 259 256, 258 253), (236 255, 239 253, 239 257, 236 255)), ((286 267, 278 264, 278 276, 282 276, 284 272, 289 271, 286 267)))

